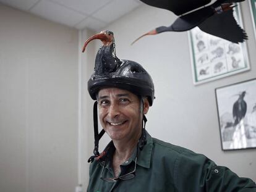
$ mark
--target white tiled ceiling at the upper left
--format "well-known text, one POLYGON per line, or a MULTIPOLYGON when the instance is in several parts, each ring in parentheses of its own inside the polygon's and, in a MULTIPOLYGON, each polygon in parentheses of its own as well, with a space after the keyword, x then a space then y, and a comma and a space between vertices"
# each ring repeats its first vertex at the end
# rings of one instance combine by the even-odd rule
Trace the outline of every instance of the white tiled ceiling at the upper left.
POLYGON ((2 4, 79 30, 98 31, 134 10, 139 0, 0 0, 2 4))

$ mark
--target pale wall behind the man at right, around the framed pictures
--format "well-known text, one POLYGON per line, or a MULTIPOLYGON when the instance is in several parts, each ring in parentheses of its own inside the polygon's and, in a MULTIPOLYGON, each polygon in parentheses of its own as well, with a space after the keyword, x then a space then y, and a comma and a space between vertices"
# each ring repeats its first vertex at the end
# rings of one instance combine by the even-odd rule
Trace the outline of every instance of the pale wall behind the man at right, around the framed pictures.
MULTIPOLYGON (((143 33, 171 24, 176 19, 171 12, 143 5, 102 30, 114 32, 117 57, 139 62, 153 78, 156 99, 147 115, 151 136, 203 153, 216 164, 256 181, 255 149, 221 151, 215 100, 215 88, 255 78, 255 38, 248 3, 242 3, 242 14, 249 35, 251 70, 197 86, 192 83, 186 32, 146 36, 130 46, 143 33)), ((101 148, 107 142, 103 141, 101 148)))

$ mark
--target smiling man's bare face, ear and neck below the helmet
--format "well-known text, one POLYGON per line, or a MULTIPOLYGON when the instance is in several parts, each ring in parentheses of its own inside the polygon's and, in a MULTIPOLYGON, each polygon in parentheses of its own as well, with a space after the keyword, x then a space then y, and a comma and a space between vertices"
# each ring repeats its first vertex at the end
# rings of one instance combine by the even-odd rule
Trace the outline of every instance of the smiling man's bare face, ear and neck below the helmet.
MULTIPOLYGON (((116 148, 112 167, 114 177, 117 177, 121 172, 120 165, 129 159, 142 135, 140 99, 130 91, 104 88, 98 93, 98 105, 101 125, 116 148)), ((143 106, 143 114, 147 114, 147 99, 143 106)))

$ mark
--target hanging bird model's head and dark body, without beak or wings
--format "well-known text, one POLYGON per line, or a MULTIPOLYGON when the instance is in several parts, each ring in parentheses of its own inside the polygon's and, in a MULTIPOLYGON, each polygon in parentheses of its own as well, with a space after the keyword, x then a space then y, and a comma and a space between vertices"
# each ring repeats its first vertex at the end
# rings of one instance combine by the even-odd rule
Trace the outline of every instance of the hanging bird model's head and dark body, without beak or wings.
POLYGON ((157 33, 162 33, 165 31, 187 31, 196 27, 213 14, 213 9, 211 9, 210 6, 203 7, 202 9, 195 10, 190 14, 186 14, 177 18, 175 22, 169 27, 162 26, 156 28, 156 31, 157 33))

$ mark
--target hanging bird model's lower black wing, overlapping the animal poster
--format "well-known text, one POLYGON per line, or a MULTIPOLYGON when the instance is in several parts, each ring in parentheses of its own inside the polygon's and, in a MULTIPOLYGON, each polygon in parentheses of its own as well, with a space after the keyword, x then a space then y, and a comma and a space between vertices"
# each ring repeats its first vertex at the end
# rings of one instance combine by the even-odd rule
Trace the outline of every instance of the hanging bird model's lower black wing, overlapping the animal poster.
POLYGON ((246 32, 237 24, 234 19, 233 9, 214 14, 200 25, 200 30, 214 36, 218 36, 234 43, 244 42, 248 39, 246 32))

